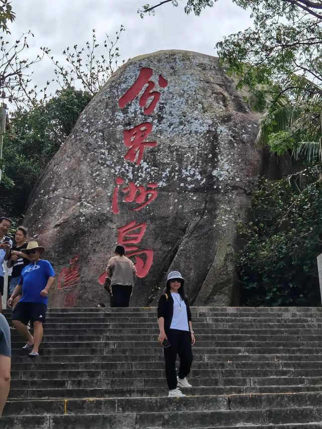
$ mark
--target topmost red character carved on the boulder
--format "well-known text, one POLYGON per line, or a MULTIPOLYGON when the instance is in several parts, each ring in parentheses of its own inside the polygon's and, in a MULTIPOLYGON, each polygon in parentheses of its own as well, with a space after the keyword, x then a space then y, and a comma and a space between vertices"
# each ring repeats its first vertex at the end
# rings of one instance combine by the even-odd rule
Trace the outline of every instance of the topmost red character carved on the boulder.
MULTIPOLYGON (((132 87, 120 98, 119 107, 123 109, 130 101, 134 100, 147 84, 147 88, 139 99, 139 106, 144 107, 143 113, 149 115, 155 109, 155 106, 160 98, 158 91, 152 91, 155 87, 155 83, 149 80, 152 77, 153 70, 148 67, 143 67, 140 70, 138 78, 133 83, 132 87), (147 106, 149 99, 152 99, 150 104, 147 106)), ((168 81, 160 74, 158 78, 158 85, 160 88, 166 88, 168 81)))

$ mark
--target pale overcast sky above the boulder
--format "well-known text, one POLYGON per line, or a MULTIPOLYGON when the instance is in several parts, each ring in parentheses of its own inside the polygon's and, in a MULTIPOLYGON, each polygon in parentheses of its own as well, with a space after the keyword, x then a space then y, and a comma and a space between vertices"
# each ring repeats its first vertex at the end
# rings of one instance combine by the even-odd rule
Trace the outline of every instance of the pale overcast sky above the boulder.
MULTIPOLYGON (((40 46, 51 48, 57 59, 67 46, 85 46, 96 29, 98 42, 108 34, 112 39, 121 24, 125 27, 119 43, 121 58, 161 49, 184 49, 216 55, 215 44, 225 35, 242 31, 252 24, 250 12, 236 7, 230 0, 218 0, 200 17, 184 13, 186 0, 178 8, 166 4, 155 16, 141 19, 137 10, 147 0, 12 0, 16 20, 10 24, 13 38, 31 30, 28 57, 36 57, 40 46)), ((149 0, 150 5, 159 3, 149 0)), ((121 62, 120 62, 121 64, 121 62)), ((36 66, 33 80, 42 86, 53 78, 49 60, 36 66)))

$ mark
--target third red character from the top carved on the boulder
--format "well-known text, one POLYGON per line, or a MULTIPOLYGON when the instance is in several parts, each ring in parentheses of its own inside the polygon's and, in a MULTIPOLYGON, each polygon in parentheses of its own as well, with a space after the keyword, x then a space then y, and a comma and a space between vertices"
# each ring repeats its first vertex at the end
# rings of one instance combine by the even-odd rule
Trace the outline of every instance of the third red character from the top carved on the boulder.
MULTIPOLYGON (((118 190, 120 188, 120 185, 123 185, 124 181, 121 177, 116 178, 116 186, 114 187, 113 191, 113 198, 112 198, 112 212, 114 214, 119 213, 118 208, 118 190)), ((157 188, 156 183, 148 183, 146 185, 146 189, 144 189, 143 186, 136 186, 134 182, 129 182, 129 185, 122 189, 122 192, 124 192, 126 197, 124 198, 125 203, 137 203, 140 204, 138 207, 135 207, 134 209, 131 209, 132 211, 141 210, 143 207, 145 207, 147 204, 149 204, 151 201, 153 201, 157 197, 157 191, 155 190, 157 188)))

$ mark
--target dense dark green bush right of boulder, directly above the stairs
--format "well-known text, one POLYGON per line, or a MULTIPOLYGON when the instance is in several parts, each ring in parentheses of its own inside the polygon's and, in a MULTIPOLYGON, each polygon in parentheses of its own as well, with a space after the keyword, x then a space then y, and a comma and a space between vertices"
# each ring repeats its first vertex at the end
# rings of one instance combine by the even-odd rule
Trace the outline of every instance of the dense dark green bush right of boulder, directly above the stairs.
POLYGON ((290 188, 287 180, 261 184, 252 221, 239 226, 245 246, 235 261, 243 305, 320 305, 321 211, 321 181, 302 191, 290 188))

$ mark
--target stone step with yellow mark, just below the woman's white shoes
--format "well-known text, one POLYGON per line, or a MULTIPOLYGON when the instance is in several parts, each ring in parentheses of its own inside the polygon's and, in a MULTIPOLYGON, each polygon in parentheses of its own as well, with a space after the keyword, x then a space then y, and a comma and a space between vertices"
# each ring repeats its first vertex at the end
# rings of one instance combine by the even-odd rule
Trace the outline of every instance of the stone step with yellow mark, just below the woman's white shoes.
MULTIPOLYGON (((176 411, 198 410, 259 410, 278 408, 318 408, 322 400, 320 392, 302 393, 267 393, 251 395, 197 395, 186 396, 176 401, 176 411)), ((8 401, 4 415, 26 415, 32 408, 35 413, 42 409, 46 414, 106 414, 107 412, 144 412, 155 409, 158 413, 167 412, 173 406, 173 398, 143 397, 143 398, 90 398, 90 399, 43 399, 8 401)))

